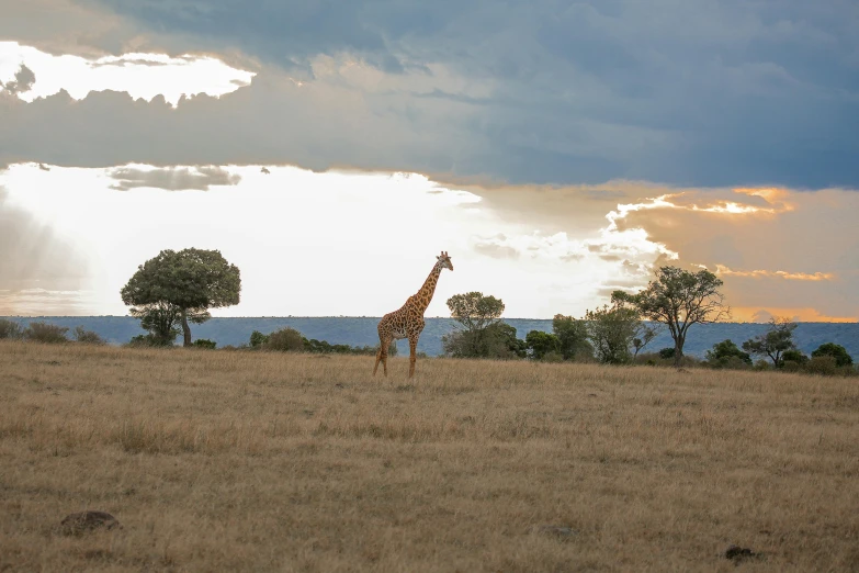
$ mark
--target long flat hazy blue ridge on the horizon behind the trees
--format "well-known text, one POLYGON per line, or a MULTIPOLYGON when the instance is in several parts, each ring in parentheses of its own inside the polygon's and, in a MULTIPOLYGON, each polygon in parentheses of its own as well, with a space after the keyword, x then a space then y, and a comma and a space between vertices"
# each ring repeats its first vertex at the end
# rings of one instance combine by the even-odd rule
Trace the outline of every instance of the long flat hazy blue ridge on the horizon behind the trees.
MULTIPOLYGON (((21 323, 43 321, 69 329, 83 326, 94 330, 111 344, 127 342, 133 336, 144 334, 140 323, 131 316, 34 316, 7 317, 21 323)), ((440 355, 441 337, 453 328, 451 318, 427 318, 427 327, 420 337, 418 350, 429 356, 440 355)), ((517 336, 524 338, 530 330, 552 332, 551 319, 505 318, 505 322, 517 329, 517 336)), ((215 340, 218 347, 226 345, 239 346, 247 344, 250 333, 259 330, 263 334, 290 326, 307 338, 327 340, 331 344, 351 346, 375 346, 378 344, 376 324, 378 317, 330 316, 330 317, 242 317, 212 318, 207 323, 193 325, 194 338, 215 340)), ((715 342, 725 339, 741 345, 744 340, 765 332, 767 325, 755 323, 720 323, 711 325, 693 325, 683 348, 687 355, 703 357, 704 352, 715 342)), ((794 332, 794 339, 800 349, 811 352, 823 342, 836 342, 844 346, 855 359, 859 360, 859 323, 800 323, 794 332)), ((671 347, 671 338, 664 330, 646 350, 658 350, 671 347)), ((399 341, 400 353, 408 352, 408 344, 399 341)))

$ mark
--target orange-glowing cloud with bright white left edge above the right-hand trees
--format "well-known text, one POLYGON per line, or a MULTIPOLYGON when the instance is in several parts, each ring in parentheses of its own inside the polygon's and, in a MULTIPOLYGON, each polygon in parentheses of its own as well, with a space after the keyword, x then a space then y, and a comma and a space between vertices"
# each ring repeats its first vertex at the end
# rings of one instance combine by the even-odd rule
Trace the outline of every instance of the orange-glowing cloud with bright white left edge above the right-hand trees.
POLYGON ((620 233, 640 229, 678 262, 716 272, 735 318, 760 310, 859 318, 859 233, 850 215, 859 212, 856 191, 666 191, 620 204, 609 214, 611 225, 620 233))

